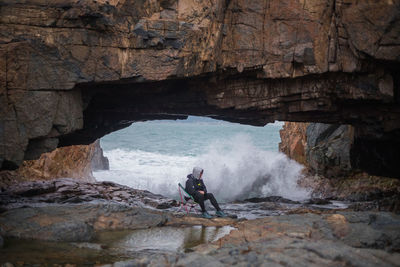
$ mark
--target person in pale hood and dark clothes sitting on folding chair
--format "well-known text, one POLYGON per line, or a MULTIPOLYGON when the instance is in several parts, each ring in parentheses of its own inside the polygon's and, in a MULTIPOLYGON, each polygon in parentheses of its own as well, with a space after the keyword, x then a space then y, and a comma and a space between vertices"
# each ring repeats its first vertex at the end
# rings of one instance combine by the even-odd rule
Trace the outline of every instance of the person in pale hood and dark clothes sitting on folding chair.
POLYGON ((186 192, 192 195, 194 200, 199 203, 204 218, 211 218, 211 215, 206 211, 206 208, 204 207, 204 200, 207 199, 210 200, 211 204, 217 210, 215 215, 217 215, 218 217, 226 217, 225 213, 219 207, 214 195, 211 193, 207 193, 206 185, 204 184, 202 179, 203 172, 203 169, 200 167, 193 168, 193 172, 187 176, 188 179, 186 181, 185 187, 186 192))

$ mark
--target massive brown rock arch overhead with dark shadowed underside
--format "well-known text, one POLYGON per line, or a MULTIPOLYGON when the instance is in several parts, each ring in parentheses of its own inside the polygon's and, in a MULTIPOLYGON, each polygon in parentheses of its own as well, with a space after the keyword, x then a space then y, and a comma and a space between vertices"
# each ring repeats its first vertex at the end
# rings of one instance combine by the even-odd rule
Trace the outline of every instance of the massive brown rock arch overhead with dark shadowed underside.
MULTIPOLYGON (((0 5, 3 169, 186 114, 351 123, 361 143, 400 146, 400 1, 0 5)), ((387 149, 376 158, 398 151, 387 149)))

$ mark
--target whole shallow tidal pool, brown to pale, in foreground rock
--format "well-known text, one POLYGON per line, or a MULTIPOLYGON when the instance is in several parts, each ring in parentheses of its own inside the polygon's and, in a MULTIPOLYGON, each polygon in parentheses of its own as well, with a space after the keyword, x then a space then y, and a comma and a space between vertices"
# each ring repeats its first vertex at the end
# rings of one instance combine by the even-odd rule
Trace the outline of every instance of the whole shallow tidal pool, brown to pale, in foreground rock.
POLYGON ((188 252, 200 244, 214 242, 235 228, 157 227, 135 231, 99 233, 93 242, 68 243, 6 238, 0 248, 0 264, 96 265, 135 258, 140 254, 188 252))

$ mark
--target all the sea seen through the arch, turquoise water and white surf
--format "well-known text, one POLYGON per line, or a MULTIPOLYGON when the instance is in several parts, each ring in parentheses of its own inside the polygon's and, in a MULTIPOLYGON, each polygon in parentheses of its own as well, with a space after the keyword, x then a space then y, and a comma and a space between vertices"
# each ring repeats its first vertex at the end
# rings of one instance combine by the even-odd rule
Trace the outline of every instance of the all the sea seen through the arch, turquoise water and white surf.
POLYGON ((308 192, 297 186, 303 167, 278 152, 282 125, 201 117, 137 122, 100 140, 110 170, 94 176, 177 199, 177 184, 184 185, 199 166, 207 190, 222 202, 271 195, 305 199, 308 192))

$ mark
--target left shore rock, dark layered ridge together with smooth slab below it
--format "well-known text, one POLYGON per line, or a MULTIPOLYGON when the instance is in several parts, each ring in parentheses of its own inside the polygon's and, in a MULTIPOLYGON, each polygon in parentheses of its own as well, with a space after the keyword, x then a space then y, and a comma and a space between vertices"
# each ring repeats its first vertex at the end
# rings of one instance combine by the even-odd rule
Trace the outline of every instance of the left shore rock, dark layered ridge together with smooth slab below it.
POLYGON ((95 231, 165 224, 159 205, 176 202, 111 182, 23 183, 0 193, 0 229, 6 237, 89 241, 95 231))

